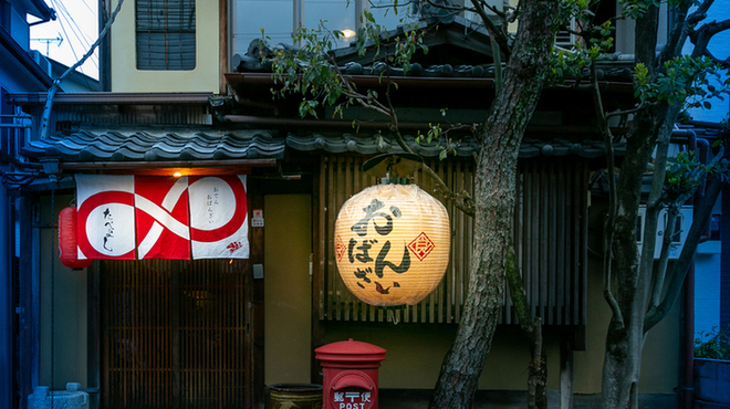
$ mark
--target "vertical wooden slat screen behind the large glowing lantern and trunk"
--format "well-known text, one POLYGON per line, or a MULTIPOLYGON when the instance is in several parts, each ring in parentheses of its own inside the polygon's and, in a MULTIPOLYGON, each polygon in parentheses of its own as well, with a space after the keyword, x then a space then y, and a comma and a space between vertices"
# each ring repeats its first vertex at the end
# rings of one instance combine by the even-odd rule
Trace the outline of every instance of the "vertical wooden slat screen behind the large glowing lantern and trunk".
MULTIPOLYGON (((314 295, 320 319, 404 323, 458 323, 468 286, 473 226, 471 218, 445 202, 455 231, 451 260, 441 284, 418 305, 395 311, 373 307, 345 287, 334 259, 334 222, 352 195, 375 185, 361 169, 359 157, 323 156, 319 179, 319 234, 323 262, 314 295), (392 317, 389 317, 392 315, 392 317)), ((429 164, 452 190, 472 192, 473 164, 446 160, 429 164)), ((587 166, 581 161, 525 161, 519 166, 514 239, 519 266, 534 314, 546 325, 585 325, 587 258, 587 166)), ((415 182, 432 192, 434 181, 415 182)), ((505 300, 502 323, 517 323, 505 300)))

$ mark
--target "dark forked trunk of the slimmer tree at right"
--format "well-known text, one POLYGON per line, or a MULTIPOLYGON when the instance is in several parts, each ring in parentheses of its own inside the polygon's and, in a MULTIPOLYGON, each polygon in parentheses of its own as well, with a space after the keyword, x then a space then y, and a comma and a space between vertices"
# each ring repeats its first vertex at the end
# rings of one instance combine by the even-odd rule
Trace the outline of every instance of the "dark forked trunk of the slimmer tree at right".
MULTIPOLYGON (((646 14, 636 20, 636 62, 645 64, 651 76, 656 75, 656 67, 660 64, 655 52, 658 21, 659 11, 656 7, 649 7, 646 14)), ((635 115, 626 136, 626 156, 616 181, 615 219, 613 226, 606 226, 606 231, 613 231, 613 241, 604 254, 613 259, 609 271, 604 271, 604 274, 611 276, 604 295, 609 303, 609 298, 613 298, 617 306, 606 334, 602 382, 602 406, 605 409, 638 407, 642 350, 648 331, 645 329, 645 317, 655 270, 654 232, 657 229, 665 175, 659 155, 666 158, 666 147, 678 112, 678 104, 648 106, 635 115), (647 199, 643 249, 639 254, 636 222, 643 177, 655 146, 658 165, 654 169, 655 181, 647 199)), ((606 223, 611 223, 611 220, 606 223)))

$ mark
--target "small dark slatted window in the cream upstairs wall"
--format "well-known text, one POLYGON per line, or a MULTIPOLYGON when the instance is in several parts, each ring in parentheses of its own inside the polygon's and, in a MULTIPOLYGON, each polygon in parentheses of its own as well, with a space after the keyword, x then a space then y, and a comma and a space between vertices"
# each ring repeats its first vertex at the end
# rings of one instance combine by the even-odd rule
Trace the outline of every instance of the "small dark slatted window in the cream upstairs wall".
POLYGON ((196 66, 195 0, 136 0, 137 70, 196 66))

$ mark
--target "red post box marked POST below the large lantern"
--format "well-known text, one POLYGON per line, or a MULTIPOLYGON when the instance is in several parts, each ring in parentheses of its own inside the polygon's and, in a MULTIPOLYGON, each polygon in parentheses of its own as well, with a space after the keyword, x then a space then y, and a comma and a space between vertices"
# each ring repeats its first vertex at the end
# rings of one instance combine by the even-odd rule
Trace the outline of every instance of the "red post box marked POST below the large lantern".
POLYGON ((350 338, 314 352, 322 364, 324 409, 377 409, 377 371, 385 349, 350 338))

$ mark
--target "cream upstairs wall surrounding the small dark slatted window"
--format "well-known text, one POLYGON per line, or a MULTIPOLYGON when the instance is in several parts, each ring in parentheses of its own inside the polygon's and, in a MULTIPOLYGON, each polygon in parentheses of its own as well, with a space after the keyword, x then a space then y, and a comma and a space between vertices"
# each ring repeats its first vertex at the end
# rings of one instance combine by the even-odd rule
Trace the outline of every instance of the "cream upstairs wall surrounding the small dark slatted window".
POLYGON ((217 93, 220 78, 218 21, 218 1, 197 0, 195 70, 140 71, 135 51, 135 2, 125 2, 112 29, 112 91, 217 93))

